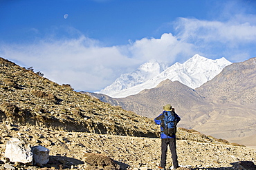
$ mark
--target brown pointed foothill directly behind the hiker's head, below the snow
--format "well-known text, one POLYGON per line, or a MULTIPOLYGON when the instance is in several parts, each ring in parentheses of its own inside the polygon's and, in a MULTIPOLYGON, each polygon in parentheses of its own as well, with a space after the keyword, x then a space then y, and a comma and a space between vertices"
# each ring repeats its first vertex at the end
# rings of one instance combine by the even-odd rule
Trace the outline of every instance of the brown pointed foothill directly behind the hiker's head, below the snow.
POLYGON ((126 98, 111 98, 104 94, 91 94, 91 96, 95 96, 106 103, 120 105, 124 109, 136 111, 137 114, 149 118, 161 114, 163 105, 166 105, 166 103, 171 103, 176 111, 181 113, 181 116, 184 115, 183 111, 191 109, 194 105, 199 105, 199 103, 207 105, 204 97, 194 89, 183 85, 179 81, 172 82, 169 79, 159 83, 153 89, 145 89, 139 94, 126 98))

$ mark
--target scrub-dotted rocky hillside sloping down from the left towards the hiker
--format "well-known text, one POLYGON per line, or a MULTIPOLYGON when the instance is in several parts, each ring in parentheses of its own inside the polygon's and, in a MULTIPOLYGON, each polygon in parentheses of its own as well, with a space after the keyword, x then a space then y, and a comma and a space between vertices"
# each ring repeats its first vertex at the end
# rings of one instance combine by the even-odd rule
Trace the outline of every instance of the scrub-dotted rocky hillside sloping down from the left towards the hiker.
POLYGON ((152 120, 0 58, 0 120, 66 131, 156 137, 152 120))

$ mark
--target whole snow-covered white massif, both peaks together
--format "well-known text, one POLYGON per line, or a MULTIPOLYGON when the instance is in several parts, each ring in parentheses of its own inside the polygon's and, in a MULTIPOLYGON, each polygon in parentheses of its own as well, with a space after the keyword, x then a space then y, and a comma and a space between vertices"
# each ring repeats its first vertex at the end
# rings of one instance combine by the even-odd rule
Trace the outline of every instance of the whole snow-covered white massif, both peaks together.
POLYGON ((122 74, 112 85, 109 85, 100 93, 107 94, 113 98, 127 97, 138 94, 143 89, 152 89, 167 78, 171 81, 179 81, 194 89, 210 81, 224 67, 231 64, 225 58, 212 60, 196 54, 185 63, 175 63, 161 72, 161 68, 163 69, 164 67, 155 62, 151 62, 151 64, 145 63, 131 74, 122 74), (147 69, 140 71, 143 70, 142 68, 147 69))

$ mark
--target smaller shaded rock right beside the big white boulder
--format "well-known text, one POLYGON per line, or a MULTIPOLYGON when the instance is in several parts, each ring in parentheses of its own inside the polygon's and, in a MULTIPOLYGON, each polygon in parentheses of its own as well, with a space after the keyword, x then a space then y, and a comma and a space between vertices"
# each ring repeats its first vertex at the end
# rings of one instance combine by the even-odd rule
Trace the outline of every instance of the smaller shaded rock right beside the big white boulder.
POLYGON ((33 160, 35 164, 47 164, 49 161, 50 150, 46 147, 35 146, 32 147, 33 160))

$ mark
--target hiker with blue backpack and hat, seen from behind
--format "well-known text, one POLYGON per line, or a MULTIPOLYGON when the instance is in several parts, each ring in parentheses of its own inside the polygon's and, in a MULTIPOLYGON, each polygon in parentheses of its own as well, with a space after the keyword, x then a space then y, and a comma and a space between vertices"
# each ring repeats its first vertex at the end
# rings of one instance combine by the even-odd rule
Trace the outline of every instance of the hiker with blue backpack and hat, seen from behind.
POLYGON ((163 107, 163 113, 154 119, 157 125, 161 125, 161 166, 158 167, 159 169, 165 169, 168 145, 172 153, 172 163, 174 165, 174 169, 179 167, 178 156, 176 153, 175 133, 176 125, 180 120, 181 118, 175 113, 174 108, 172 108, 170 104, 165 105, 163 107))

